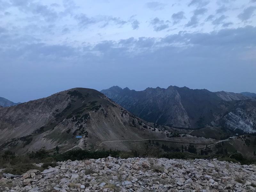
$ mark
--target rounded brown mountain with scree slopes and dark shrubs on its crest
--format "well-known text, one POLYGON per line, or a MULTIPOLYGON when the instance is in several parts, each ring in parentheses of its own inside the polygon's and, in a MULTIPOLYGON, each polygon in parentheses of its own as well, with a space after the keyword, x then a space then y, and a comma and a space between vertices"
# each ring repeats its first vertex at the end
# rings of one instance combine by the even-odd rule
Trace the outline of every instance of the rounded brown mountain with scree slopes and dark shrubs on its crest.
POLYGON ((0 108, 0 149, 17 154, 56 146, 60 152, 72 148, 96 150, 108 140, 161 138, 161 129, 164 126, 148 123, 104 94, 86 88, 0 108))

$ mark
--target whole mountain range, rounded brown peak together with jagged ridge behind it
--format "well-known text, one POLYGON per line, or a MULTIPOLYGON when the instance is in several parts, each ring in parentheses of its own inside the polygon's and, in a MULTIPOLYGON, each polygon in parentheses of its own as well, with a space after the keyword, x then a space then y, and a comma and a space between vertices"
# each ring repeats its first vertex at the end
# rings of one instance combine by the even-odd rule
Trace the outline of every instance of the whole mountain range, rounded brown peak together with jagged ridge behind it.
MULTIPOLYGON (((256 100, 242 94, 176 86, 139 92, 114 86, 102 92, 74 88, 1 107, 0 151, 22 154, 58 146, 60 152, 74 148, 145 152, 151 150, 149 139, 175 151, 183 144, 197 143, 198 148, 218 144, 232 131, 256 130, 256 100)), ((250 139, 253 142, 254 136, 250 139)), ((230 150, 251 156, 255 149, 239 142, 236 146, 231 142, 230 150)))

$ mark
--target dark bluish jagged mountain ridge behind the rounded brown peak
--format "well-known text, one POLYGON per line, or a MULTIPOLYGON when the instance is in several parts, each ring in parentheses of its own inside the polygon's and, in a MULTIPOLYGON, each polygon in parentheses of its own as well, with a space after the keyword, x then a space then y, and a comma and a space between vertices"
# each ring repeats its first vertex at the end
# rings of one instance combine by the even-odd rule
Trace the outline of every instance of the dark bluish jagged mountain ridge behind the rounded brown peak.
POLYGON ((215 93, 177 86, 143 91, 113 86, 101 92, 149 122, 187 129, 209 124, 256 132, 256 100, 239 93, 215 93))

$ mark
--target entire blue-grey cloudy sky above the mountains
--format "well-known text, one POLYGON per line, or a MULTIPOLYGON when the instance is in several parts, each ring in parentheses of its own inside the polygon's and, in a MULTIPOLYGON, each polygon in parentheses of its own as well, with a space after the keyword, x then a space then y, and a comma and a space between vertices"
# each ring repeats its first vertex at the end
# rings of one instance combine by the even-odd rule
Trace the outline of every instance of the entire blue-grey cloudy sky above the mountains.
POLYGON ((256 0, 0 0, 0 97, 170 85, 256 92, 256 0))

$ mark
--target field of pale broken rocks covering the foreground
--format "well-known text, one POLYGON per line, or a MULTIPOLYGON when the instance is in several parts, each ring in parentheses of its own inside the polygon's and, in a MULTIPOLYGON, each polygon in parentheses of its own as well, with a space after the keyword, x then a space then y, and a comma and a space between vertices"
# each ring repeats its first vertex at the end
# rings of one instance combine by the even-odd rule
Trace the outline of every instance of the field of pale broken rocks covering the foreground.
POLYGON ((5 174, 0 179, 0 191, 256 191, 255 165, 216 159, 107 157, 57 164, 43 172, 29 170, 14 178, 5 174))

